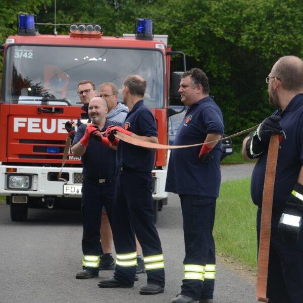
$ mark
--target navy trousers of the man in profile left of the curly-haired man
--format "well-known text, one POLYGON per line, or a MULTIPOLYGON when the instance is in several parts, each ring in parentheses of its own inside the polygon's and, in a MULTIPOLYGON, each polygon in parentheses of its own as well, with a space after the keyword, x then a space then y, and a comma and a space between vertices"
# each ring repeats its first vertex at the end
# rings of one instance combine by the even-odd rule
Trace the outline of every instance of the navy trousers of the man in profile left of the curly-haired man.
MULTIPOLYGON (((113 237, 117 255, 136 251, 135 234, 144 257, 162 255, 160 238, 155 227, 154 201, 151 173, 119 171, 117 177, 113 237)), ((136 267, 116 264, 114 278, 133 284, 136 267)), ((146 270, 147 283, 165 284, 164 268, 146 270)))

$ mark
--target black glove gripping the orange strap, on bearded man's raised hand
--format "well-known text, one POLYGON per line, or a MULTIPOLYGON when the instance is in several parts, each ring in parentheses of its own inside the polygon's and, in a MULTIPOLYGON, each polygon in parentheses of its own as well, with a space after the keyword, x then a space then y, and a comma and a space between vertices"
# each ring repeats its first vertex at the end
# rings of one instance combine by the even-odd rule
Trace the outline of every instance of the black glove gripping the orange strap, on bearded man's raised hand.
POLYGON ((282 127, 279 124, 280 119, 280 116, 267 117, 258 126, 257 135, 262 143, 268 143, 271 135, 283 134, 282 127))

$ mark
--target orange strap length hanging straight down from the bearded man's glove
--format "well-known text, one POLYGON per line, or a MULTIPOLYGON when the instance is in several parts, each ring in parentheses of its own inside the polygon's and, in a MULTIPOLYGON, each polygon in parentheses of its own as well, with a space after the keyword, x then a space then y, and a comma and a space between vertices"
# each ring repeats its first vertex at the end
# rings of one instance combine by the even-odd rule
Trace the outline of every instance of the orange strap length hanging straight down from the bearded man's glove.
POLYGON ((258 256, 258 276, 257 276, 257 300, 268 302, 266 297, 268 259, 271 235, 271 218, 273 208, 274 185, 279 149, 278 135, 272 135, 268 147, 266 173, 263 190, 261 232, 258 256))

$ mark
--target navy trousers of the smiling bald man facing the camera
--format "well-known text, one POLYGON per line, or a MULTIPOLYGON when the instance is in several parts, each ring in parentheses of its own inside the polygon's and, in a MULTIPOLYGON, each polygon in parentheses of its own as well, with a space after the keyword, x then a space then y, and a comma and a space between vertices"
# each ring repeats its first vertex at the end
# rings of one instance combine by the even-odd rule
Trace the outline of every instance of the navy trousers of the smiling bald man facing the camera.
MULTIPOLYGON (((99 256, 100 225, 103 206, 112 227, 115 182, 98 183, 84 178, 82 184, 82 251, 83 255, 99 256)), ((85 269, 86 267, 84 267, 85 269)), ((86 268, 98 272, 98 268, 86 268)))

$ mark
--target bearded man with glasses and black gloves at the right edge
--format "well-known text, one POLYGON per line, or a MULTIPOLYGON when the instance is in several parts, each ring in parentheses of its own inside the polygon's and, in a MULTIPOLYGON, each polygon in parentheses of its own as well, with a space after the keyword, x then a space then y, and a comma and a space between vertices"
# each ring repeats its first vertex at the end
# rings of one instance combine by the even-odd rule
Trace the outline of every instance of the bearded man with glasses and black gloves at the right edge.
POLYGON ((276 168, 268 264, 269 303, 303 303, 303 61, 280 58, 269 76, 270 104, 279 109, 243 141, 245 159, 259 158, 251 176, 251 198, 258 206, 258 246, 262 196, 272 134, 283 134, 276 168))

